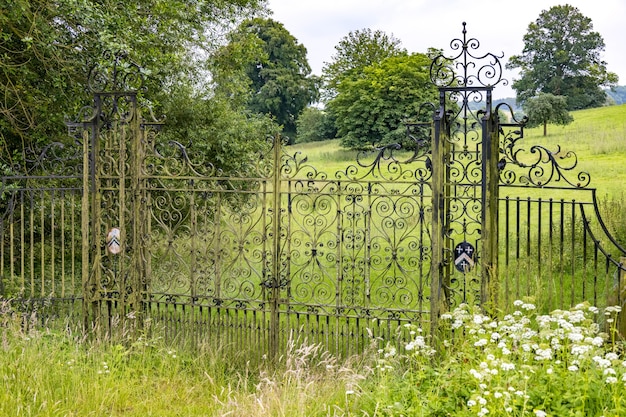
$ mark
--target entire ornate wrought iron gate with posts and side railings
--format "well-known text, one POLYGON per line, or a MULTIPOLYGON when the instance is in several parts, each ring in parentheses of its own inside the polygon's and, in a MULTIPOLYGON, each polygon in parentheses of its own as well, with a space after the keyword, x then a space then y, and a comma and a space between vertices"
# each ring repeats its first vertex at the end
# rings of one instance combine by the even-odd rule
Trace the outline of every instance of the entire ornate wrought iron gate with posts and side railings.
POLYGON ((498 56, 478 55, 465 27, 450 46, 431 66, 439 103, 407 125, 412 145, 331 174, 272 138, 224 176, 160 139, 140 68, 111 57, 69 124, 78 147, 2 178, 0 290, 104 332, 150 318, 171 338, 272 355, 293 337, 358 352, 462 302, 621 303, 626 252, 589 176, 568 178, 570 152, 526 149, 524 123, 493 108, 498 56))

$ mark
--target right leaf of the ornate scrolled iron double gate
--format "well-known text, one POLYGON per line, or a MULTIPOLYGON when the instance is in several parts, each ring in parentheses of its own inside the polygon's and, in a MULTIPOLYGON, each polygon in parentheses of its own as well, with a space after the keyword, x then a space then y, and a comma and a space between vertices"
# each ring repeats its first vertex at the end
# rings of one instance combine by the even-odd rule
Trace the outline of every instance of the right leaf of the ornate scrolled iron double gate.
POLYGON ((299 154, 283 157, 283 336, 296 332, 350 352, 369 343, 368 331, 395 337, 402 323, 428 322, 426 143, 415 139, 400 155, 396 145, 363 153, 332 175, 299 154))

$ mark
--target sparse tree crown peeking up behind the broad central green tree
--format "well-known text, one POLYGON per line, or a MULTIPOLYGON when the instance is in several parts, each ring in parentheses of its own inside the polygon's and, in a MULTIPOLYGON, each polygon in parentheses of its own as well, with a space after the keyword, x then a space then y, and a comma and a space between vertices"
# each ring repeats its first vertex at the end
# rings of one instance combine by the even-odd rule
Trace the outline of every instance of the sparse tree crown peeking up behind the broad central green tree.
POLYGON ((324 63, 325 98, 332 99, 342 80, 359 78, 364 68, 406 54, 400 45, 399 39, 380 30, 362 29, 348 33, 335 46, 336 53, 331 62, 324 63))

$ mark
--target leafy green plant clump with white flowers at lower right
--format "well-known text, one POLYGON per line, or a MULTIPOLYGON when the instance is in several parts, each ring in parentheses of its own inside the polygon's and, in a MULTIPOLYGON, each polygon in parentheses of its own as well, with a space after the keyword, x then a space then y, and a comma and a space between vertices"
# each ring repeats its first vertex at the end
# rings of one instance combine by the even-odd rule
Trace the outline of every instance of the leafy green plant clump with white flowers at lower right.
POLYGON ((412 340, 380 351, 374 392, 357 393, 366 410, 402 416, 622 415, 623 354, 615 318, 589 304, 489 317, 465 304, 441 317, 438 339, 407 325, 412 340), (606 318, 607 333, 597 320, 606 318), (406 353, 400 353, 404 350, 406 353))

